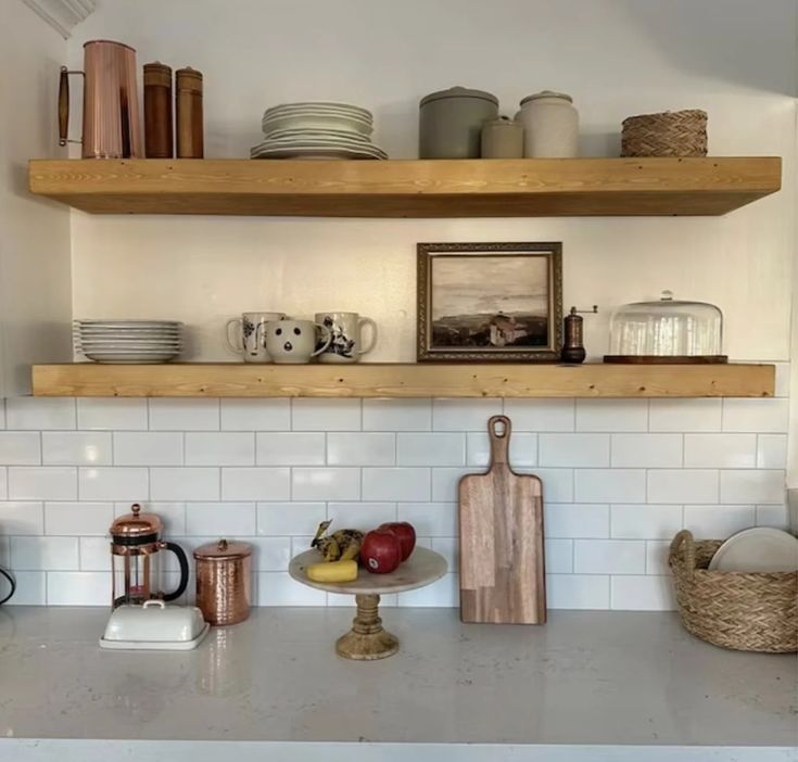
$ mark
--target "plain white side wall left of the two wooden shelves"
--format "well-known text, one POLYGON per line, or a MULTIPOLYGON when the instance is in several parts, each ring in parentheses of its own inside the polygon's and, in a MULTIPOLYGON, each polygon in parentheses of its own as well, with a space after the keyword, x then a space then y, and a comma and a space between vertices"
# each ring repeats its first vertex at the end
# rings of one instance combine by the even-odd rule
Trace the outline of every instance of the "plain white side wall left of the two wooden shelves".
POLYGON ((66 42, 16 0, 0 4, 0 393, 26 393, 30 363, 71 356, 69 213, 27 192, 27 161, 58 155, 66 42))

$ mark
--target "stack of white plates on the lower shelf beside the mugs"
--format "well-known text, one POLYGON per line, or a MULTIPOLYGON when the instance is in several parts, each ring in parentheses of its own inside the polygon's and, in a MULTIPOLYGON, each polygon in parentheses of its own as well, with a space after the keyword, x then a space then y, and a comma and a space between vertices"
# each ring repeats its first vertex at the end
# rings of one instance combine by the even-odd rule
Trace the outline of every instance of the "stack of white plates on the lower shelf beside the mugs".
POLYGON ((182 350, 177 320, 75 320, 75 348, 97 363, 168 363, 182 350))

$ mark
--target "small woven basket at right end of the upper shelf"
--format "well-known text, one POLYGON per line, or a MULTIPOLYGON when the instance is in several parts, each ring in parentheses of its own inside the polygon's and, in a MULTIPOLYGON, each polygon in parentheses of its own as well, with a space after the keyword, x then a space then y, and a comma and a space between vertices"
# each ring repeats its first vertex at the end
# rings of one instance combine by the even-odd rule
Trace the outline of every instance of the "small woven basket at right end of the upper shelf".
POLYGON ((706 156, 707 112, 698 109, 623 119, 621 156, 706 156))

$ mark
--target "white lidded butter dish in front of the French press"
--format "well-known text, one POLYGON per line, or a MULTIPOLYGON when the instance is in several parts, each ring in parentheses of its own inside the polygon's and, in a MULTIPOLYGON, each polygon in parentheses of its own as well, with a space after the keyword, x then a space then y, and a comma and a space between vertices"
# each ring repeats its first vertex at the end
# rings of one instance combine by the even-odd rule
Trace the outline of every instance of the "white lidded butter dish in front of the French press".
POLYGON ((195 606, 166 606, 163 600, 148 600, 143 606, 115 609, 100 638, 100 647, 189 651, 200 645, 208 628, 195 606))

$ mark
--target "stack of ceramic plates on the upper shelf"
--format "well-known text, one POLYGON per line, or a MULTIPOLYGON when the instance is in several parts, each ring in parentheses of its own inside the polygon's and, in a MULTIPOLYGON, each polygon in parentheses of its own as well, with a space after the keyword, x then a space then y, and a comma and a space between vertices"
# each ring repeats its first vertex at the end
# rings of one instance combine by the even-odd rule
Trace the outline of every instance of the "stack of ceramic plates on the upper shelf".
POLYGON ((283 103, 263 115, 252 158, 388 158, 371 142, 371 112, 349 103, 283 103))

